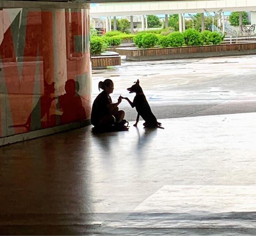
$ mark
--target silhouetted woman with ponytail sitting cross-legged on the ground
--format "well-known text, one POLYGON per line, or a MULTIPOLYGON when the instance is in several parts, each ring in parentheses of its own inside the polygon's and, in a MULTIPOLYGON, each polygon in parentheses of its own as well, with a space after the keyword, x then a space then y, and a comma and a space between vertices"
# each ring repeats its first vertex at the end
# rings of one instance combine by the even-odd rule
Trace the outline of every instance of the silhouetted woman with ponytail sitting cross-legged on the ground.
POLYGON ((91 123, 98 131, 106 130, 127 130, 124 120, 124 111, 118 111, 118 105, 121 103, 121 96, 117 103, 112 103, 109 94, 113 93, 114 83, 111 79, 99 82, 99 90, 103 91, 95 98, 91 111, 91 123), (125 129, 126 128, 126 129, 125 129))

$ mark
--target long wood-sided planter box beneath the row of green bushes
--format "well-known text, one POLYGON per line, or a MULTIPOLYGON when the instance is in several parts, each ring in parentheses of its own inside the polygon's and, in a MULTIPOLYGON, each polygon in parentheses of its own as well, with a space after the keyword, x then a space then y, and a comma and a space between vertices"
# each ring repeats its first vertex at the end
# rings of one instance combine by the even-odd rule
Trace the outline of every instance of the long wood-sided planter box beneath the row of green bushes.
POLYGON ((232 56, 256 54, 256 43, 150 49, 118 48, 116 52, 120 55, 126 55, 127 60, 134 61, 232 56))

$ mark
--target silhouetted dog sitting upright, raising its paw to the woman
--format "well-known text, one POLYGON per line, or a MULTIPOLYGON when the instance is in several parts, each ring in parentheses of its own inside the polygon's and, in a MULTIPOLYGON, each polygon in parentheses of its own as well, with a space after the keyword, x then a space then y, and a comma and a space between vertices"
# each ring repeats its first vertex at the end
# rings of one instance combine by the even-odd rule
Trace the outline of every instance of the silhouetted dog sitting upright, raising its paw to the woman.
POLYGON ((162 124, 157 122, 157 118, 155 118, 154 114, 152 113, 150 106, 147 102, 147 99, 142 91, 142 88, 140 87, 139 80, 137 80, 137 82, 134 83, 135 84, 133 84, 132 87, 127 88, 129 93, 136 93, 133 102, 131 102, 129 98, 124 98, 129 102, 132 108, 135 107, 136 111, 138 112, 136 123, 133 126, 137 126, 139 122, 139 117, 141 116, 145 121, 145 123, 143 123, 145 127, 158 127, 164 129, 163 127, 161 127, 162 124))

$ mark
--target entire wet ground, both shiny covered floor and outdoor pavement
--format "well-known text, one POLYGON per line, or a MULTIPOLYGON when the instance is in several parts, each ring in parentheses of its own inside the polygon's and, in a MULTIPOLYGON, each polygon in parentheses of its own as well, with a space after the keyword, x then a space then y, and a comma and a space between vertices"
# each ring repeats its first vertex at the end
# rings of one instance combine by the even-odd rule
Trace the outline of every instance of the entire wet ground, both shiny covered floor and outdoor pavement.
POLYGON ((256 235, 255 59, 94 71, 94 97, 112 78, 113 100, 133 98, 125 88, 140 79, 165 129, 133 127, 123 101, 129 131, 1 147, 0 235, 256 235))

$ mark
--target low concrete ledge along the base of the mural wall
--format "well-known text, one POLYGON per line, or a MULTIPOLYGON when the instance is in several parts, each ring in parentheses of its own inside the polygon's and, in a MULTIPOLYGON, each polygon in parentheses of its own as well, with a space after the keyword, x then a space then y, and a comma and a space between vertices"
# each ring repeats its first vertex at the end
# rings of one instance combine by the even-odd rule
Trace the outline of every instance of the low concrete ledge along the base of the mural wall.
POLYGON ((84 126, 88 126, 90 124, 91 124, 90 119, 86 119, 84 121, 69 123, 65 125, 59 125, 59 126, 55 126, 47 129, 35 130, 35 131, 22 133, 22 134, 15 134, 12 136, 0 138, 0 146, 4 146, 4 145, 16 143, 16 142, 22 142, 29 139, 39 138, 39 137, 43 137, 50 134, 56 134, 56 133, 60 133, 60 132, 64 132, 72 129, 78 129, 84 126))

